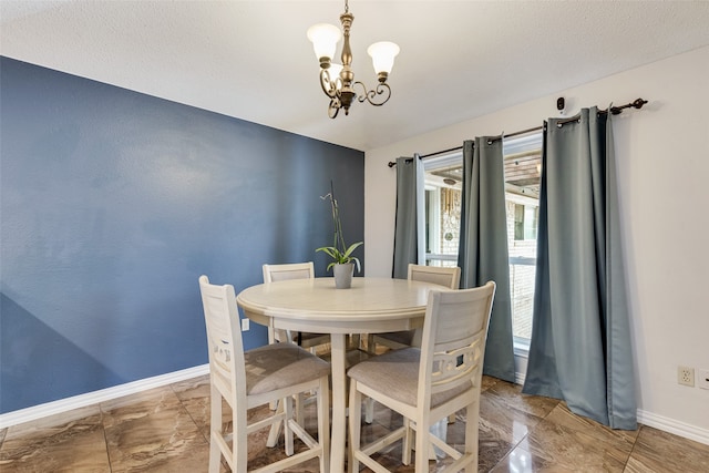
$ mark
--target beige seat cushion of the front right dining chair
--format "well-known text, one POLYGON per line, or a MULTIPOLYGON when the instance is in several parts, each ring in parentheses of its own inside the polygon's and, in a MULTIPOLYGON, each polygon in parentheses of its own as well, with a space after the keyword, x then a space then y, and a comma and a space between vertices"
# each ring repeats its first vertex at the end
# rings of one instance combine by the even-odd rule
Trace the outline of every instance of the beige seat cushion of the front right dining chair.
MULTIPOLYGON (((350 368, 347 373, 357 382, 386 393, 397 401, 415 407, 420 359, 420 349, 402 348, 362 361, 350 368)), ((431 397, 431 408, 435 408, 469 389, 470 385, 460 385, 435 393, 431 397)))

